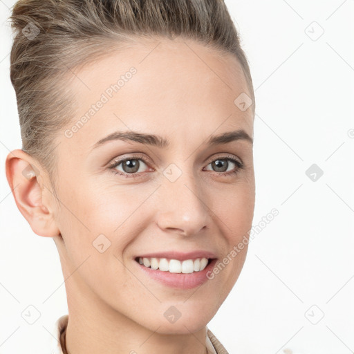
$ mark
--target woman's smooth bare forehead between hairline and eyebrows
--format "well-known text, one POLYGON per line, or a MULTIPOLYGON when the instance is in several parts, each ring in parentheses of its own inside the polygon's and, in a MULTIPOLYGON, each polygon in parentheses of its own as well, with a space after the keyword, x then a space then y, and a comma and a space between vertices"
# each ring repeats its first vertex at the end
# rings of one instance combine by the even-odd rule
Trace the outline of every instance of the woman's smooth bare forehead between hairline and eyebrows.
POLYGON ((184 39, 137 41, 83 66, 70 82, 77 110, 75 140, 93 145, 115 130, 141 130, 192 138, 243 127, 252 136, 251 108, 234 104, 250 96, 236 57, 184 39), (103 104, 98 104, 99 102, 103 104), (99 106, 99 107, 97 107, 99 106), (222 129, 221 125, 225 125, 222 129))

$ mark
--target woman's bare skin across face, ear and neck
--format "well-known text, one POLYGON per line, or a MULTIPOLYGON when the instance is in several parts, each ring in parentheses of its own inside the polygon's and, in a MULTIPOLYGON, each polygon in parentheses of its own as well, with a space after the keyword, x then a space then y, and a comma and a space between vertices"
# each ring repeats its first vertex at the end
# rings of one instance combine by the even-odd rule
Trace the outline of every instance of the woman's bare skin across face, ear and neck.
MULTIPOLYGON (((190 290, 151 279, 133 258, 209 250, 223 259, 250 230, 252 143, 205 145, 210 136, 236 129, 253 136, 251 108, 241 111, 234 104, 250 93, 233 56, 183 39, 144 40, 75 72, 80 80, 68 84, 77 101, 73 124, 131 66, 136 75, 84 127, 71 138, 58 133, 59 201, 46 171, 22 150, 8 154, 8 182, 17 186, 12 194, 32 230, 57 245, 66 279, 69 353, 205 354, 207 323, 238 279, 247 246, 214 279, 190 290), (109 133, 130 130, 157 134, 170 145, 115 140, 92 149, 109 133), (115 171, 127 178, 107 167, 133 153, 145 160, 138 160, 137 178, 129 178, 122 164, 115 171), (222 176, 212 162, 225 156, 244 168, 222 176), (182 172, 174 182, 163 174, 171 163, 182 172), (22 174, 28 164, 37 167, 37 178, 22 174), (111 242, 103 253, 92 244, 99 234, 111 242), (164 317, 170 306, 181 313, 173 324, 164 317)), ((238 169, 227 161, 227 171, 238 169)))

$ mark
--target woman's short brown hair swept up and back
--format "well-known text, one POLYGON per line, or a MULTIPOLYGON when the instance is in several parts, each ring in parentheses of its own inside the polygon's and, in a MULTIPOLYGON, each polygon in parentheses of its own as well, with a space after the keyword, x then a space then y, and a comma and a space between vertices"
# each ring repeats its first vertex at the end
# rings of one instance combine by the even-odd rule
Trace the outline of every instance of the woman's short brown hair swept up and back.
POLYGON ((118 48, 136 37, 179 36, 232 53, 245 73, 254 113, 248 60, 223 0, 19 0, 10 20, 15 32, 10 78, 22 149, 50 178, 56 134, 75 114, 73 95, 63 81, 73 76, 73 68, 112 50, 112 44, 118 48))

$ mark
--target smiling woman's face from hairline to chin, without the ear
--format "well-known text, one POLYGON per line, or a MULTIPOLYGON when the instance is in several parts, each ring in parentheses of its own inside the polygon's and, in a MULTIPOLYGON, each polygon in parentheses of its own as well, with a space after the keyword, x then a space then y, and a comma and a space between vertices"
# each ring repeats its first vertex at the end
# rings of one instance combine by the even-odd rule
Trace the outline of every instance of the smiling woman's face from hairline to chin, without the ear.
POLYGON ((84 66, 68 85, 77 112, 56 142, 64 243, 55 241, 69 308, 159 333, 200 330, 239 277, 247 245, 232 250, 252 226, 253 115, 240 104, 250 96, 241 66, 192 41, 145 41, 84 66), (191 259, 181 263, 189 273, 176 261, 172 272, 138 263, 153 254, 167 265, 191 259), (212 265, 190 273, 203 255, 212 265))

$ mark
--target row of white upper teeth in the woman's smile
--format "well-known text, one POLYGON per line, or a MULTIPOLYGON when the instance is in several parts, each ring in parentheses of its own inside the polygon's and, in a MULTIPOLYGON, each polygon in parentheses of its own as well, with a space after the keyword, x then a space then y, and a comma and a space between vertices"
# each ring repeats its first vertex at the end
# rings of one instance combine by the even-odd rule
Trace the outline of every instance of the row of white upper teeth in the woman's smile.
POLYGON ((159 269, 162 272, 170 273, 193 273, 200 272, 207 266, 207 258, 186 259, 185 261, 178 261, 178 259, 166 258, 142 258, 139 257, 139 263, 145 265, 147 268, 153 270, 159 269))

